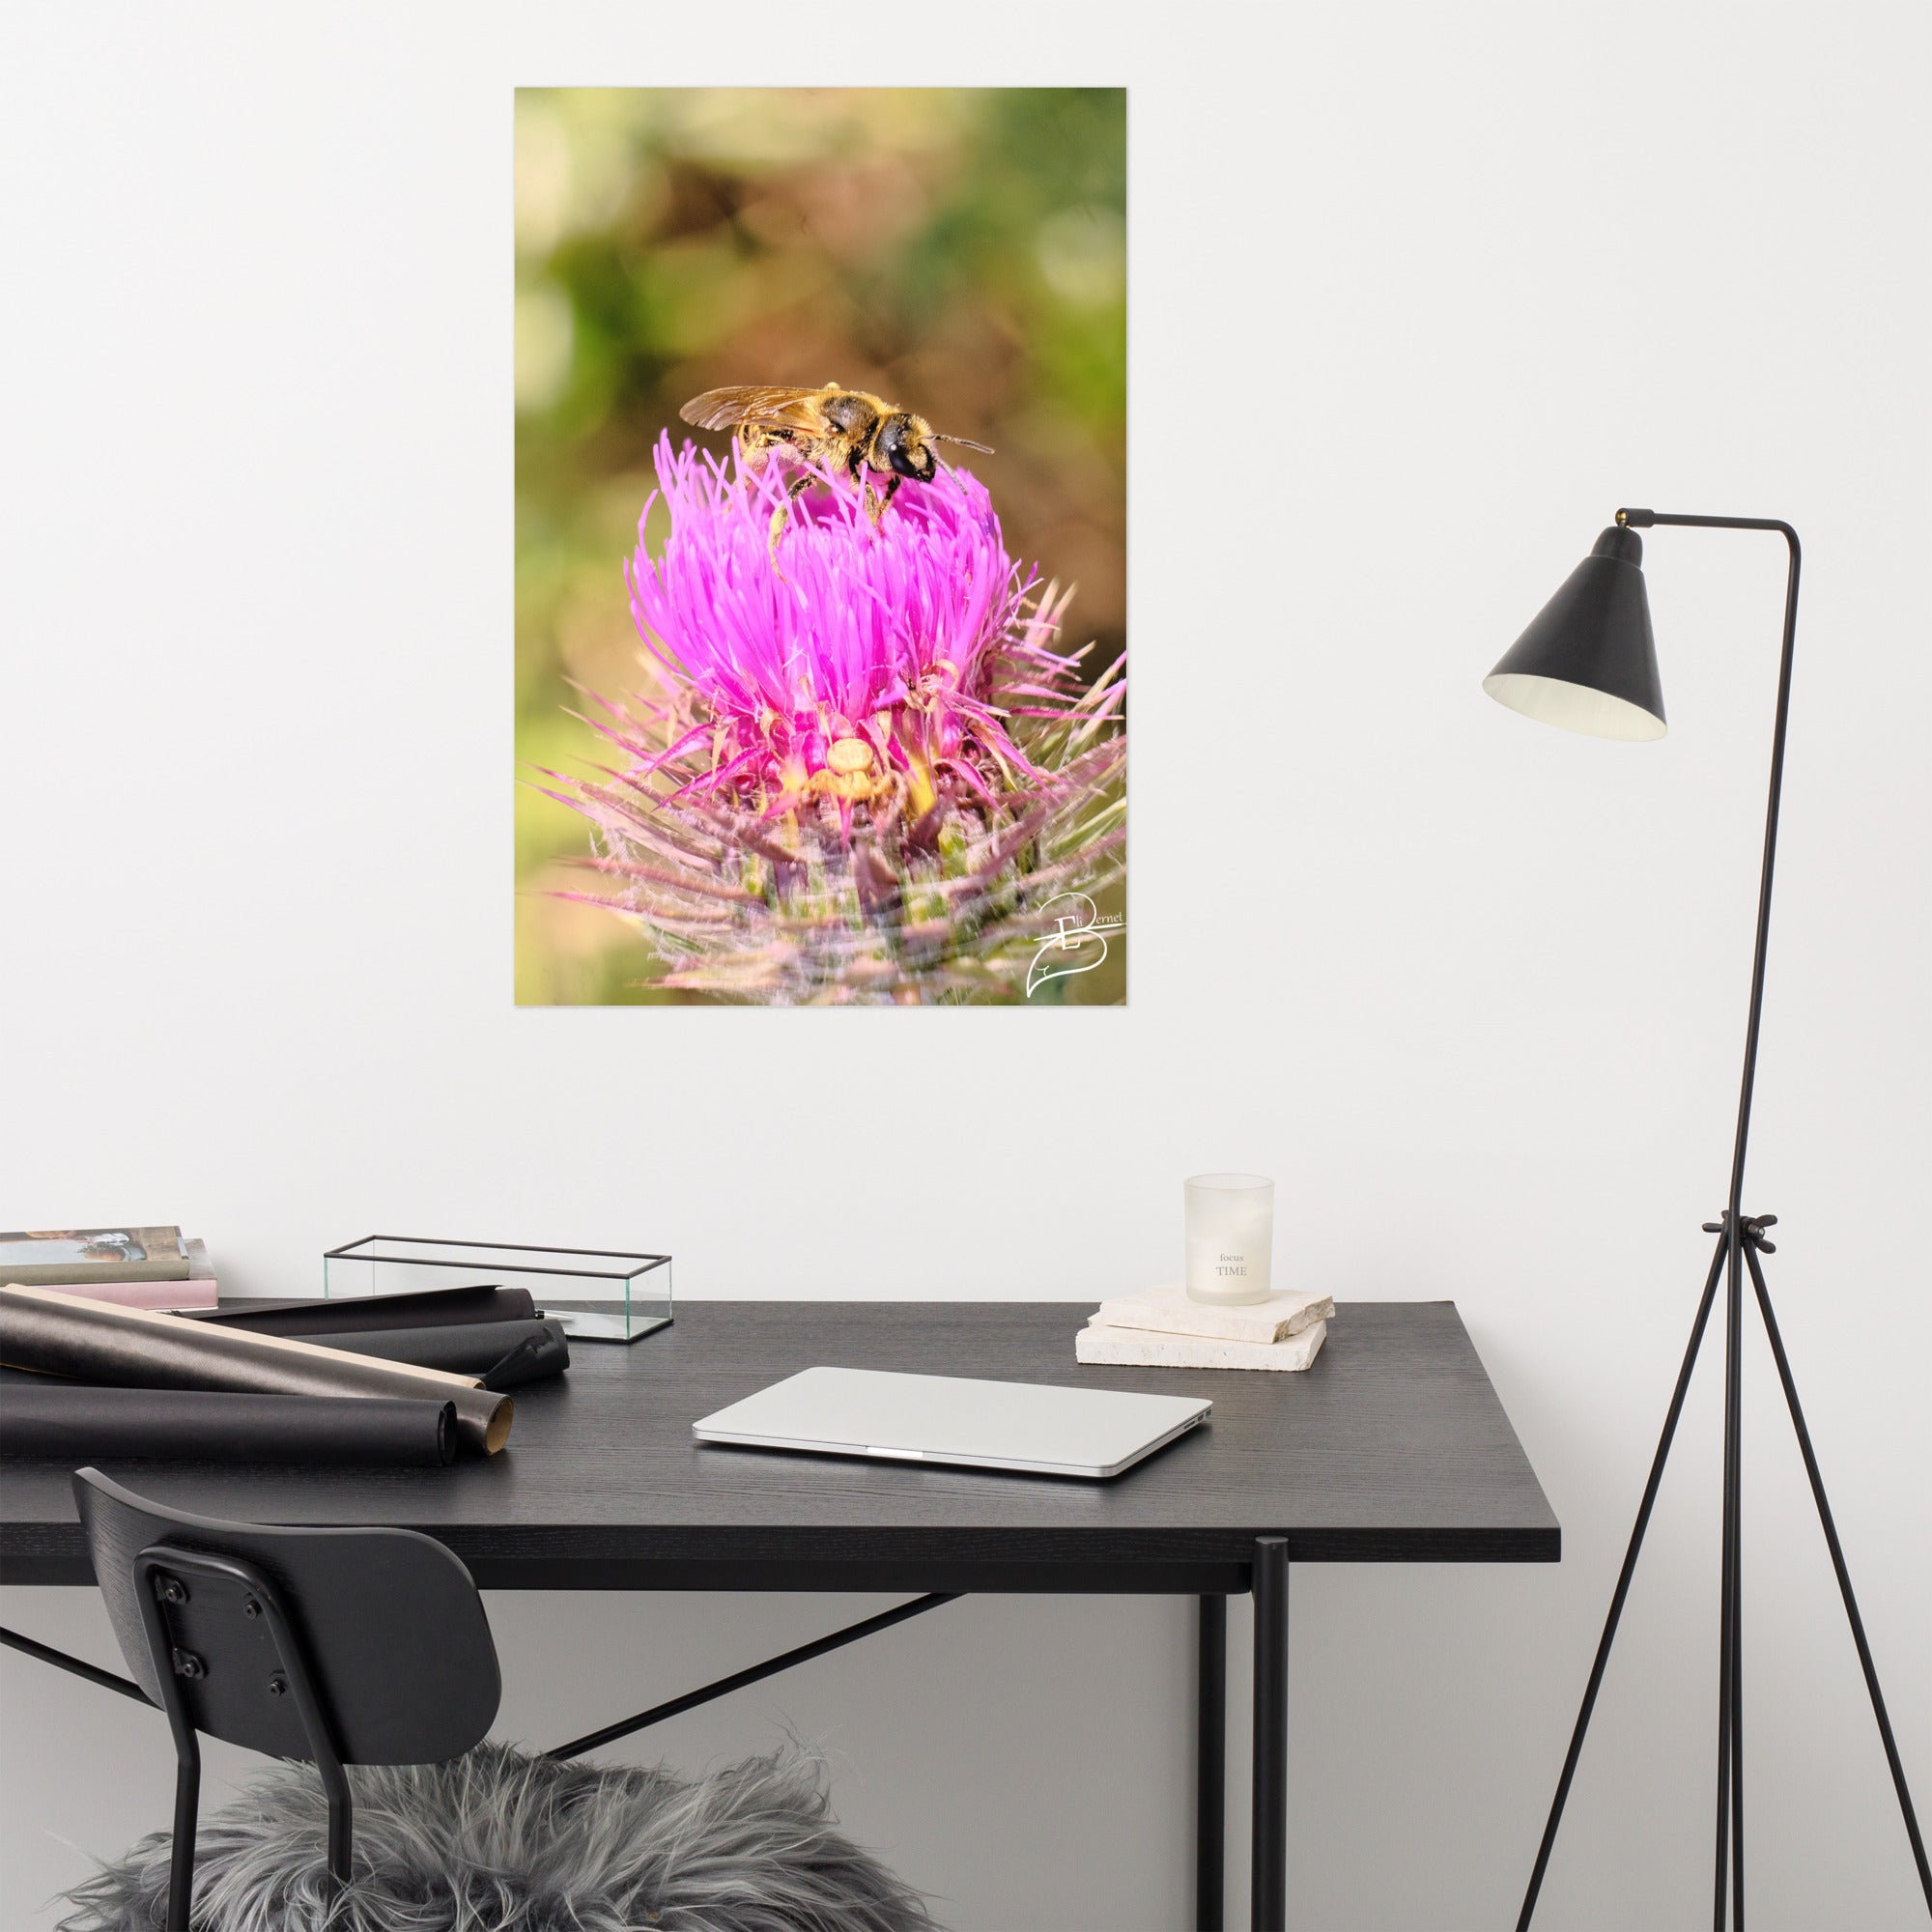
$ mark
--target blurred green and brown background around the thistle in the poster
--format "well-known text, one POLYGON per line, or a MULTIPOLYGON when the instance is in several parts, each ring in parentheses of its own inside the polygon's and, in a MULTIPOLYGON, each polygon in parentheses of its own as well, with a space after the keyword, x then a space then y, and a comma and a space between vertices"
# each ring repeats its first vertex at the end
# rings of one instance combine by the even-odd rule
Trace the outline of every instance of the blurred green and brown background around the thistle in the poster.
MULTIPOLYGON (((1016 560, 1126 645, 1119 89, 524 89, 516 102, 518 757, 603 763, 574 686, 649 682, 620 574, 661 431, 724 383, 838 381, 989 442, 1016 560)), ((697 437, 719 454, 723 437, 697 437)), ((649 531, 663 537, 663 512, 649 531)), ((518 788, 518 1001, 686 1001, 578 883, 583 819, 518 788)), ((1121 910, 1119 904, 1111 910, 1121 910)), ((1115 947, 1119 956, 1122 949, 1115 947)), ((1063 981, 1113 1003, 1124 960, 1063 981), (1115 970, 1119 964, 1121 970, 1115 970)))

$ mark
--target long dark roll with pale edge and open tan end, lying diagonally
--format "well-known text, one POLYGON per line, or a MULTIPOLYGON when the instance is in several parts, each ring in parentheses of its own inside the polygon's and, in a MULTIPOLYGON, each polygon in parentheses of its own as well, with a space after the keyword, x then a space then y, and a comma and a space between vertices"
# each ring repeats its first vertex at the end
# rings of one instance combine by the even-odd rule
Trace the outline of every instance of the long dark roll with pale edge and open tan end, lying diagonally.
POLYGON ((124 1389, 354 1395, 456 1406, 462 1447, 491 1455, 516 1406, 469 1376, 319 1349, 296 1335, 209 1327, 149 1308, 110 1308, 56 1289, 0 1285, 0 1362, 124 1389))

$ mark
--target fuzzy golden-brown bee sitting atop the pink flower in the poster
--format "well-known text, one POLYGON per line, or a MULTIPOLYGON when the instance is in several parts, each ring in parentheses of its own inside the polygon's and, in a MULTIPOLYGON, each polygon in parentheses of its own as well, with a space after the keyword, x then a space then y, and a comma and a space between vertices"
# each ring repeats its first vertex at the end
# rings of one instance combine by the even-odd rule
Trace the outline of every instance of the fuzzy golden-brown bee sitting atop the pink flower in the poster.
MULTIPOLYGON (((939 435, 923 415, 898 410, 883 396, 840 388, 837 383, 823 388, 782 388, 769 383, 707 388, 701 396, 692 396, 678 415, 697 429, 734 429, 738 452, 752 469, 773 456, 790 456, 815 469, 842 469, 860 487, 873 529, 906 477, 931 483, 945 468, 933 450, 935 442, 993 454, 983 442, 939 435), (873 489, 873 475, 885 477, 883 491, 873 489)), ((810 483, 811 477, 802 475, 786 485, 784 502, 771 514, 773 551, 792 498, 810 483)))

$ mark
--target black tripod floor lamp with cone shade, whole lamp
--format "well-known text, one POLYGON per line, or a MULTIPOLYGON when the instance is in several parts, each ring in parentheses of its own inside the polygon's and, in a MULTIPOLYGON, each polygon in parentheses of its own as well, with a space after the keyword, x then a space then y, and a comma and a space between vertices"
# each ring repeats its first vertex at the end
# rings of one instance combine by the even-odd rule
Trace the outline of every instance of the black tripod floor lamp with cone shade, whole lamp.
POLYGON ((1658 649, 1650 634, 1650 599, 1644 591, 1644 539, 1636 535, 1638 529, 1648 529, 1654 524, 1683 524, 1696 529, 1776 529, 1791 553, 1791 570, 1785 580, 1783 655, 1777 665, 1777 723, 1772 728, 1772 794, 1764 813, 1764 867, 1758 875, 1758 941, 1750 962, 1750 1018, 1745 1028, 1745 1082, 1737 1103, 1737 1140, 1731 1148, 1731 1192, 1723 1213, 1716 1221, 1704 1223, 1704 1233, 1718 1236, 1718 1252, 1712 1256, 1710 1273, 1704 1279, 1704 1296, 1698 1302, 1696 1320, 1690 1323, 1690 1347, 1685 1350, 1683 1368, 1677 1372, 1677 1389, 1663 1416, 1663 1435, 1658 1439, 1658 1453, 1650 1464, 1650 1482, 1644 1484, 1636 1526, 1631 1530, 1631 1546, 1623 1555, 1617 1588, 1609 1600, 1609 1617, 1604 1621, 1604 1636, 1596 1646, 1596 1662, 1590 1665, 1590 1683, 1584 1687, 1582 1710, 1577 1712, 1577 1729, 1571 1735, 1569 1756, 1563 1760, 1563 1776, 1557 1779, 1549 1822, 1544 1826, 1544 1839, 1536 1849, 1536 1868, 1530 1872, 1530 1886, 1522 1897, 1522 1915, 1517 1918, 1517 1932, 1528 1932, 1530 1915, 1536 1911, 1536 1893, 1542 1889, 1544 1870, 1549 1864, 1549 1847, 1555 1843, 1557 1824, 1563 1818, 1563 1801, 1569 1797, 1571 1779, 1577 1774, 1584 1731, 1590 1727, 1596 1692, 1604 1683, 1604 1665, 1609 1662, 1609 1646, 1617 1636, 1617 1619, 1623 1615, 1623 1600, 1629 1594, 1631 1575, 1636 1569, 1636 1553, 1644 1544, 1644 1528, 1650 1524, 1650 1507, 1658 1499, 1663 1463, 1671 1451, 1677 1416, 1683 1410, 1685 1391, 1690 1387, 1690 1372, 1696 1366, 1698 1347, 1704 1341, 1719 1279, 1725 1283, 1723 1557, 1719 1571, 1721 1609, 1718 1634, 1718 1870, 1712 1924, 1716 1932, 1723 1932, 1725 1905, 1729 1901, 1731 1924, 1737 1932, 1743 1932, 1745 1690, 1739 1660, 1743 1607, 1739 1580, 1739 1345, 1743 1341, 1747 1273, 1758 1300, 1758 1312, 1764 1318, 1764 1333, 1772 1345, 1772 1358, 1777 1364, 1777 1379, 1785 1389, 1785 1405, 1791 1408, 1791 1426, 1797 1430, 1799 1449, 1804 1455, 1804 1474, 1810 1478, 1812 1499, 1818 1503, 1818 1520, 1824 1524, 1826 1548, 1832 1551, 1832 1567, 1837 1571, 1837 1588, 1845 1598, 1845 1615, 1851 1621, 1853 1642, 1859 1646, 1864 1685, 1872 1692, 1872 1714, 1878 1718, 1878 1735, 1886 1745, 1891 1783, 1897 1789, 1899 1810, 1905 1816, 1905 1833, 1911 1839, 1913 1857, 1918 1861, 1918 1884, 1926 1893, 1926 1909, 1932 1911, 1932 1868, 1926 1866, 1924 1839, 1918 1835, 1911 1791, 1905 1787, 1905 1768, 1899 1764, 1899 1747, 1891 1737, 1891 1719, 1886 1716, 1886 1700, 1878 1689, 1872 1650, 1864 1640, 1859 1602, 1851 1594, 1851 1575, 1845 1569, 1845 1553, 1839 1548, 1837 1528, 1832 1522, 1832 1505, 1826 1501, 1824 1478, 1818 1474, 1818 1457, 1812 1453, 1810 1432, 1804 1428, 1804 1410, 1799 1406, 1797 1383, 1791 1379, 1791 1364, 1785 1360, 1777 1318, 1772 1314, 1772 1296, 1764 1287, 1764 1265, 1758 1258, 1776 1252, 1772 1242, 1766 1240, 1764 1231, 1777 1221, 1777 1215, 1743 1211, 1745 1144, 1750 1134, 1750 1088, 1758 1065, 1758 1018, 1764 1007, 1764 947, 1772 929, 1772 862, 1777 854, 1777 794, 1783 784, 1785 719, 1791 707, 1791 647, 1797 638, 1799 614, 1797 531, 1776 518, 1665 516, 1660 510, 1619 510, 1615 526, 1596 539, 1590 554, 1571 572, 1555 597, 1544 605, 1530 628, 1509 647, 1495 670, 1482 680, 1482 688, 1499 703, 1544 724, 1586 732, 1594 738, 1662 738, 1663 690, 1658 680, 1658 649))

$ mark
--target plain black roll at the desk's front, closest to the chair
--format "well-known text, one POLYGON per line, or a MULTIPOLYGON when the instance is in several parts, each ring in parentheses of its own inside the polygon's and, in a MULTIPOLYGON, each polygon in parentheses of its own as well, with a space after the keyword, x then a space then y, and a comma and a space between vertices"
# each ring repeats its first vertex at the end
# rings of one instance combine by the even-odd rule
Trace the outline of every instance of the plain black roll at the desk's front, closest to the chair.
POLYGON ((305 1466, 439 1466, 456 1455, 450 1403, 203 1389, 0 1383, 0 1455, 70 1468, 97 1457, 305 1466))

